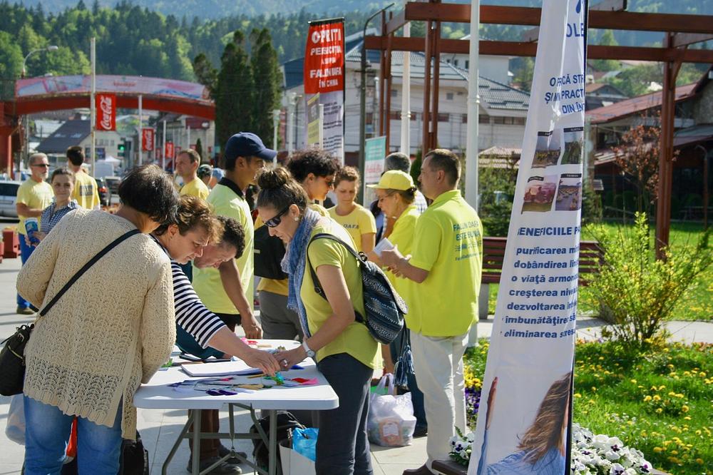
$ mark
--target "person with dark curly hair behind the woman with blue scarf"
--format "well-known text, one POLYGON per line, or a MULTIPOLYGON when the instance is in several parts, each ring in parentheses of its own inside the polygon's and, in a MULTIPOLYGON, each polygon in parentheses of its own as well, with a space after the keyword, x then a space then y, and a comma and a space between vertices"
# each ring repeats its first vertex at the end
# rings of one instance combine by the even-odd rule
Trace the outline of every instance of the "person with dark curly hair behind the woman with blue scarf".
MULTIPOLYGON (((327 210, 314 201, 323 202, 329 190, 332 190, 334 175, 339 170, 337 160, 319 148, 298 150, 289 158, 287 170, 302 185, 304 193, 307 193, 308 203, 312 203, 309 207, 322 216, 329 215, 327 210)), ((262 220, 257 218, 255 229, 261 225, 262 220)), ((287 283, 287 279, 262 278, 257 285, 260 323, 265 338, 302 339, 297 314, 287 308, 287 283)))

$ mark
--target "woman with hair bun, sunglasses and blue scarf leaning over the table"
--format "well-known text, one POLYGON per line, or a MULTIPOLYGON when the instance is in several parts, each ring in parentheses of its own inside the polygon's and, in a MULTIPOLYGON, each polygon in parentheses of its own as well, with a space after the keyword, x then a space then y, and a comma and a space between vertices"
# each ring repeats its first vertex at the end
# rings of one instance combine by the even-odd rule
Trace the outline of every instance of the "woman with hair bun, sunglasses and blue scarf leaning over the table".
POLYGON ((317 474, 371 474, 366 414, 376 341, 355 320, 355 311, 364 315, 361 272, 343 245, 326 238, 312 241, 319 233, 347 243, 352 239, 332 218, 308 207, 307 194, 287 170, 265 170, 257 183, 260 218, 287 245, 288 305, 305 329, 302 346, 275 357, 284 368, 314 357, 339 397, 337 409, 319 412, 317 474), (326 298, 314 291, 310 267, 326 298))

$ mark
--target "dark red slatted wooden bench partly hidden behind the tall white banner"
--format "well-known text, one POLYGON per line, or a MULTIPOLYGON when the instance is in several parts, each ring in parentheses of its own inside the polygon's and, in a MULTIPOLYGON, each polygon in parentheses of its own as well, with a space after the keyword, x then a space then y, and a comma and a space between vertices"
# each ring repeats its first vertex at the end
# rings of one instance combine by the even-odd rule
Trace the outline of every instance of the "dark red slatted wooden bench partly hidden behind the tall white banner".
MULTIPOLYGON (((483 237, 483 277, 478 297, 481 320, 488 318, 489 284, 499 284, 503 272, 503 259, 507 237, 483 237)), ((604 250, 596 241, 580 241, 579 272, 580 285, 586 285, 582 274, 596 274, 604 262, 604 250)))

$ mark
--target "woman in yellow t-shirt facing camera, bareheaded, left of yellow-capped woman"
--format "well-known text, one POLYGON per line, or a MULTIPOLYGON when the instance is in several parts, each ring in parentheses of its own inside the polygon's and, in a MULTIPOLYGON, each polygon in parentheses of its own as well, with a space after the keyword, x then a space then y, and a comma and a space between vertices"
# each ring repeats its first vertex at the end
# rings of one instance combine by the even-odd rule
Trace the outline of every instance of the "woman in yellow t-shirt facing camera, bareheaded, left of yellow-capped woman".
POLYGON ((337 172, 334 184, 337 206, 329 208, 329 215, 349 231, 357 251, 369 254, 374 249, 376 221, 371 211, 354 203, 359 189, 359 171, 354 167, 342 168, 337 172))

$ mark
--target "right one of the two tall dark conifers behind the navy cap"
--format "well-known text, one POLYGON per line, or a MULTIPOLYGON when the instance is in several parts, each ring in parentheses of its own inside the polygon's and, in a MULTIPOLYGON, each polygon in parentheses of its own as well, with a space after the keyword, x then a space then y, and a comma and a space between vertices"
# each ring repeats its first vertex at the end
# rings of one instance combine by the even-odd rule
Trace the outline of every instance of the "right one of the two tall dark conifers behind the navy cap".
POLYGON ((257 133, 265 143, 272 148, 277 148, 277 143, 272 143, 273 119, 272 110, 279 108, 282 91, 282 74, 277 62, 277 51, 272 46, 270 31, 253 30, 250 34, 252 44, 252 57, 250 68, 255 83, 252 102, 252 127, 250 131, 257 133))

